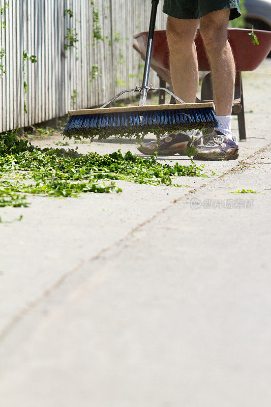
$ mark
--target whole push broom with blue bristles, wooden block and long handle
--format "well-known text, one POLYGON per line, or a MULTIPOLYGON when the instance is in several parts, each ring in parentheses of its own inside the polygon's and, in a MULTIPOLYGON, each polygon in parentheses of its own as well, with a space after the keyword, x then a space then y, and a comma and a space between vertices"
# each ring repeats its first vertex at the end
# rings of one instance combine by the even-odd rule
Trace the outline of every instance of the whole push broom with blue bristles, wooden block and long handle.
POLYGON ((67 137, 106 138, 111 135, 142 137, 148 132, 162 134, 165 131, 203 129, 218 126, 214 103, 185 103, 166 88, 148 86, 150 57, 155 31, 159 0, 152 0, 145 66, 142 86, 127 89, 96 109, 70 110, 69 121, 64 129, 67 137), (146 105, 147 93, 164 90, 179 103, 146 105), (139 106, 108 107, 126 92, 139 92, 139 106))

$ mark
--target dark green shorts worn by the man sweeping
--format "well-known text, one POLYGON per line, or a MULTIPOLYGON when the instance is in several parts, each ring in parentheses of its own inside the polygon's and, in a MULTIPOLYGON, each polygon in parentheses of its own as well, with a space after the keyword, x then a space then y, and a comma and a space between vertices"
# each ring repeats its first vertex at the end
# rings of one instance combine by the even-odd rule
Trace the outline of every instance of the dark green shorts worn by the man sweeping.
POLYGON ((163 12, 171 17, 192 20, 207 13, 223 9, 230 10, 230 20, 241 15, 240 0, 165 0, 163 12))

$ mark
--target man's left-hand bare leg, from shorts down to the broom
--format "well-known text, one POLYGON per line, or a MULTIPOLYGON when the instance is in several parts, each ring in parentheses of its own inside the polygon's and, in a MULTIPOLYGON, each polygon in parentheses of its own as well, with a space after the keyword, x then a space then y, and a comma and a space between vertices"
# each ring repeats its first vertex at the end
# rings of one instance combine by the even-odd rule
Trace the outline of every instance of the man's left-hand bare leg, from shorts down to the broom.
POLYGON ((170 75, 175 95, 186 103, 195 103, 198 89, 198 61, 195 34, 198 19, 167 19, 170 75))

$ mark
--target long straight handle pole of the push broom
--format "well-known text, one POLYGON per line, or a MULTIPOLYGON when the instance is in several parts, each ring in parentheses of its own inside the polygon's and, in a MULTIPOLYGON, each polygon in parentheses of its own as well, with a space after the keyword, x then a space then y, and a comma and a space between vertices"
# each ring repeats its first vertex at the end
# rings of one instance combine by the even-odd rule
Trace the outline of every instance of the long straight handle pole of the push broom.
POLYGON ((146 56, 145 56, 145 66, 144 66, 144 73, 143 73, 143 80, 142 80, 142 89, 140 92, 139 106, 146 105, 147 89, 145 89, 143 86, 148 85, 150 57, 152 56, 153 39, 154 39, 154 32, 155 32, 155 21, 156 21, 158 3, 159 3, 159 0, 152 0, 152 12, 150 13, 148 40, 147 40, 147 48, 146 48, 146 56))

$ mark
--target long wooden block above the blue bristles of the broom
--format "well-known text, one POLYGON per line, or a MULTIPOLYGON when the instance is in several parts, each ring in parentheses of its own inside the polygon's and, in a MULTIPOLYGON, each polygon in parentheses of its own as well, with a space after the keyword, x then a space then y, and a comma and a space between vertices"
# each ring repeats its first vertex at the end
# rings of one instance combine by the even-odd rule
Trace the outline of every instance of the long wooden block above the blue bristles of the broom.
POLYGON ((126 106, 126 107, 104 107, 98 109, 80 109, 80 110, 69 110, 68 114, 70 116, 75 116, 78 114, 98 114, 98 113, 124 113, 133 111, 146 111, 146 110, 171 110, 171 109, 197 109, 204 107, 212 107, 215 110, 215 105, 213 102, 202 102, 202 103, 174 103, 169 105, 147 105, 147 106, 126 106))

